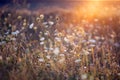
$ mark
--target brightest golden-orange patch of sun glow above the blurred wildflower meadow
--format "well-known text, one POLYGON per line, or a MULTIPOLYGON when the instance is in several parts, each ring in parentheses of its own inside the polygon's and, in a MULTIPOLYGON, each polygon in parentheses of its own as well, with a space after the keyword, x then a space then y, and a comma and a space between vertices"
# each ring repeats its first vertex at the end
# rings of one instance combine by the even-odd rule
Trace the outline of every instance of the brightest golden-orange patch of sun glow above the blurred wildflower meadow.
POLYGON ((83 4, 79 4, 76 6, 75 15, 77 18, 81 16, 84 19, 92 20, 96 16, 99 18, 112 16, 115 11, 111 10, 111 5, 109 2, 113 2, 112 0, 85 0, 83 4))

